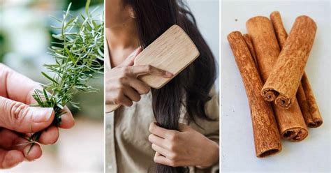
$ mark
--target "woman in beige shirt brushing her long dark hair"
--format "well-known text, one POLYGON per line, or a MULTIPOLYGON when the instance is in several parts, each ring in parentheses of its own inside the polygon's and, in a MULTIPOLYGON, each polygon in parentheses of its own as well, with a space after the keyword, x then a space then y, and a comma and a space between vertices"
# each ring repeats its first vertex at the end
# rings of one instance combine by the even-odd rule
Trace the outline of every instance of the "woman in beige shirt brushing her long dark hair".
POLYGON ((107 172, 216 170, 216 63, 188 8, 176 0, 107 0, 105 25, 105 100, 124 105, 106 114, 107 172), (172 24, 188 33, 200 56, 161 89, 149 89, 138 75, 172 74, 133 66, 135 55, 172 24))

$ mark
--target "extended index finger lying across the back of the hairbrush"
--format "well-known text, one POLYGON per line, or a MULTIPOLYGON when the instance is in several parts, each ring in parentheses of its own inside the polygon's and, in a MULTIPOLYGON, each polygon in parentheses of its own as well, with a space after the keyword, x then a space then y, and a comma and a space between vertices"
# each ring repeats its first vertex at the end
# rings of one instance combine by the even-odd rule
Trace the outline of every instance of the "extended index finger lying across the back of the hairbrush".
POLYGON ((172 73, 170 73, 168 71, 165 71, 165 70, 161 70, 161 69, 156 68, 156 67, 151 66, 151 65, 133 66, 132 67, 132 73, 136 77, 138 77, 140 75, 147 75, 147 74, 157 75, 157 76, 161 76, 161 77, 165 77, 165 78, 172 77, 172 73))

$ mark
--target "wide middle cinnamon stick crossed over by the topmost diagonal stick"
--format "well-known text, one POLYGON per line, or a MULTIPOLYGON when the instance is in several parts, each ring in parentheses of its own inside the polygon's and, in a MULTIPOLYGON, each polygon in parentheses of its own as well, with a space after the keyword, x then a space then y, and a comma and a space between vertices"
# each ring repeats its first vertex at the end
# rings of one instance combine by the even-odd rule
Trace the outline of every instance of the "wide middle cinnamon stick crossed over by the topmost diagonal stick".
MULTIPOLYGON (((280 52, 272 23, 267 17, 258 16, 249 19, 246 27, 255 48, 262 80, 265 82, 270 77, 280 52)), ((297 142, 307 137, 307 126, 296 99, 293 106, 287 110, 274 103, 273 108, 282 138, 297 142)))

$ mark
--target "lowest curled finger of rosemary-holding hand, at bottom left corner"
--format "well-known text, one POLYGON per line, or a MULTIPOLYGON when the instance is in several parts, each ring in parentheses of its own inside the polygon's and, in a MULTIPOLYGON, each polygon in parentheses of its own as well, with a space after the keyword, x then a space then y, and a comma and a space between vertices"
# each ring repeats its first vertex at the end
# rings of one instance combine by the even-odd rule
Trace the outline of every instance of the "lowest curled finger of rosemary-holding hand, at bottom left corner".
POLYGON ((15 167, 24 161, 24 156, 21 151, 0 149, 0 169, 8 169, 15 167))

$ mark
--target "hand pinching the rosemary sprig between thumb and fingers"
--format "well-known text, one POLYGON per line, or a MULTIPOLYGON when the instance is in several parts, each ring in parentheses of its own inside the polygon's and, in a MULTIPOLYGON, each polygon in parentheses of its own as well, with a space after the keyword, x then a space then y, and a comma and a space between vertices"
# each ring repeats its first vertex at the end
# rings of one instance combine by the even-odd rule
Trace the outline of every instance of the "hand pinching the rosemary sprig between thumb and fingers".
MULTIPOLYGON (((53 109, 29 106, 36 102, 32 97, 35 89, 41 86, 0 63, 0 169, 41 157, 41 146, 34 144, 29 151, 31 145, 24 136, 43 130, 39 143, 54 144, 59 138, 59 129, 50 126, 53 109)), ((73 116, 68 107, 64 111, 67 113, 61 116, 59 127, 71 128, 73 116)))

